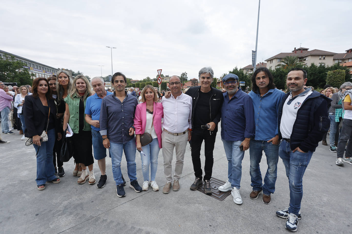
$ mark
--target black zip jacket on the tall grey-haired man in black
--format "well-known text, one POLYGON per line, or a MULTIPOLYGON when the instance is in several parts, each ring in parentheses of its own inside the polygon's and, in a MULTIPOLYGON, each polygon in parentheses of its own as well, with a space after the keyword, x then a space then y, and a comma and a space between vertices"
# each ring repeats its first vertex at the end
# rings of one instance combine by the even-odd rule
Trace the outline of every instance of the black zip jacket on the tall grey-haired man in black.
MULTIPOLYGON (((197 101, 199 98, 199 91, 201 86, 190 87, 186 94, 192 97, 192 128, 193 128, 193 116, 194 110, 197 107, 197 101)), ((215 129, 213 132, 218 132, 218 123, 221 119, 221 106, 222 102, 224 102, 224 96, 219 89, 213 88, 210 91, 210 100, 209 100, 209 108, 210 108, 210 121, 215 123, 215 129)), ((199 110, 198 110, 199 111, 199 110)))

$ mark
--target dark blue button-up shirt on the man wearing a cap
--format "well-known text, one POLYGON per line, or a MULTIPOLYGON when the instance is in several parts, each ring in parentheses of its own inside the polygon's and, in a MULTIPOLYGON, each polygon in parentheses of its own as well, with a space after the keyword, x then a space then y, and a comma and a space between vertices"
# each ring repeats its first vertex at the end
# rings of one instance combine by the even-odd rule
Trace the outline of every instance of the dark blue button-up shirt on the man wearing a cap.
POLYGON ((254 115, 251 97, 238 89, 229 100, 227 92, 221 107, 221 138, 226 141, 243 141, 254 137, 254 115))

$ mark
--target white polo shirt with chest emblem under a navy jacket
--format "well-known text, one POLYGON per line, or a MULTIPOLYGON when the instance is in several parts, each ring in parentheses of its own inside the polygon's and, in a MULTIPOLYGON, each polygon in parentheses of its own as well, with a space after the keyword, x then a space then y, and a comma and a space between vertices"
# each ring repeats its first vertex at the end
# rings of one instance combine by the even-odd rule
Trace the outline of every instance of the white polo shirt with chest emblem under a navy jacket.
POLYGON ((302 93, 292 97, 292 93, 287 97, 282 108, 282 116, 280 123, 280 132, 282 138, 291 138, 293 125, 296 121, 297 112, 302 106, 304 100, 308 98, 313 91, 311 88, 306 89, 302 93))

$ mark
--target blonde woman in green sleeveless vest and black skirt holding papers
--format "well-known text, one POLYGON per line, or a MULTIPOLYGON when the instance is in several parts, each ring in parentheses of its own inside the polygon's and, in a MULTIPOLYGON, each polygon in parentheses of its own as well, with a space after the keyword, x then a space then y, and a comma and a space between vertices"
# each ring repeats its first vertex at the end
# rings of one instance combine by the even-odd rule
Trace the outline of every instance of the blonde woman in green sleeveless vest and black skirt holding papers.
POLYGON ((87 98, 92 95, 92 86, 84 75, 77 75, 72 82, 72 87, 64 99, 66 110, 64 114, 63 129, 67 129, 69 123, 73 136, 74 159, 78 166, 81 166, 82 173, 77 183, 85 183, 88 179, 90 185, 95 184, 93 172, 92 154, 92 134, 89 123, 84 119, 84 109, 86 108, 87 98), (87 172, 87 167, 89 172, 87 172))

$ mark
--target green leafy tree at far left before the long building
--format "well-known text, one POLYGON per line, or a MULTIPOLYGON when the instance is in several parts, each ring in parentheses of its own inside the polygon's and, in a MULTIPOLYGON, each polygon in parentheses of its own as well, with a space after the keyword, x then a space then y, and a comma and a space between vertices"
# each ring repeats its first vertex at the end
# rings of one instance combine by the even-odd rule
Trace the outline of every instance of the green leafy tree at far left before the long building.
POLYGON ((4 59, 0 59, 0 80, 2 82, 17 82, 17 86, 32 85, 31 76, 26 63, 16 61, 14 56, 4 55, 4 59))

